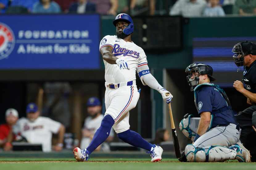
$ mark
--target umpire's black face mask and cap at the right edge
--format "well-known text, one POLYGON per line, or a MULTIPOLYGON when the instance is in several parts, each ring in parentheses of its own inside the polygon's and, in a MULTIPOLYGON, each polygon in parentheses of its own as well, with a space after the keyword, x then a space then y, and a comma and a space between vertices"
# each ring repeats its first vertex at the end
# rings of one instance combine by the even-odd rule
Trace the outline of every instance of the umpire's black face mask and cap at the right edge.
POLYGON ((239 71, 241 66, 244 65, 244 57, 246 55, 256 55, 256 44, 249 41, 239 42, 238 44, 234 45, 232 52, 235 53, 233 55, 233 59, 237 65, 237 71, 239 71))

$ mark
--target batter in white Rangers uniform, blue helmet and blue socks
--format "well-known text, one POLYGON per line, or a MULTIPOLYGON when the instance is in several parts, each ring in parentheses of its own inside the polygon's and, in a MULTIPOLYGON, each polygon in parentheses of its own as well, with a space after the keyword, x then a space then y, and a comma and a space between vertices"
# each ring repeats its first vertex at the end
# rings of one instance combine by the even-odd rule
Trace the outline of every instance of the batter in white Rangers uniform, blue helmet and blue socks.
POLYGON ((130 130, 129 111, 136 106, 139 99, 135 72, 137 71, 143 85, 157 90, 167 103, 171 102, 172 95, 151 75, 143 49, 131 41, 134 31, 132 18, 128 14, 118 14, 113 24, 116 35, 105 36, 99 47, 105 64, 105 116, 89 146, 83 150, 75 148, 74 157, 77 161, 88 160, 93 150, 107 139, 113 126, 119 139, 148 150, 151 162, 160 161, 163 149, 130 130))

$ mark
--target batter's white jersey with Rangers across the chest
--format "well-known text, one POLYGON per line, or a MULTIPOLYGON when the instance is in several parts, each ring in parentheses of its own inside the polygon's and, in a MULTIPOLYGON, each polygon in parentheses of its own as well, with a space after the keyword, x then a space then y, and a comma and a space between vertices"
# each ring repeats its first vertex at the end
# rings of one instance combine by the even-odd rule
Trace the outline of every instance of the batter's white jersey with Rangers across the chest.
POLYGON ((105 64, 105 81, 107 83, 122 83, 127 81, 136 80, 135 72, 139 73, 139 67, 147 65, 147 56, 144 50, 133 42, 126 42, 116 35, 107 35, 102 38, 100 42, 100 50, 104 46, 112 46, 115 57, 124 59, 130 67, 128 69, 119 69, 116 64, 109 64, 104 61, 105 64))

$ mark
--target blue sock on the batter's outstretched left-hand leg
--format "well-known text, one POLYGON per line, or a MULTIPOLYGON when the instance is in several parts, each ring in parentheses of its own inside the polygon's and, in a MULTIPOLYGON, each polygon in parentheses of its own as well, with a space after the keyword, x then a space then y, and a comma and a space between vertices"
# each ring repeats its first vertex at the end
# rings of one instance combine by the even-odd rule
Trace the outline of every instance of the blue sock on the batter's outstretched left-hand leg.
POLYGON ((112 126, 114 125, 114 119, 110 115, 106 115, 102 121, 101 126, 94 133, 93 140, 87 147, 87 151, 91 154, 100 144, 102 144, 108 137, 112 126))

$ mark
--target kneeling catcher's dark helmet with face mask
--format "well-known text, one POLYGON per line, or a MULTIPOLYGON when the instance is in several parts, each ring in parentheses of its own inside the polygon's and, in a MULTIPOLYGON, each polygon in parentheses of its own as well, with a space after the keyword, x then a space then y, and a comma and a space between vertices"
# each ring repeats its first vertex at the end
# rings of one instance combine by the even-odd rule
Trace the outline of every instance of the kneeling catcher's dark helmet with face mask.
POLYGON ((207 74, 210 78, 210 81, 215 80, 215 78, 213 77, 213 68, 209 65, 205 65, 202 63, 193 63, 189 65, 186 68, 185 73, 188 75, 187 81, 188 81, 188 85, 191 87, 191 91, 193 91, 194 88, 198 85, 199 76, 202 74, 207 74))

